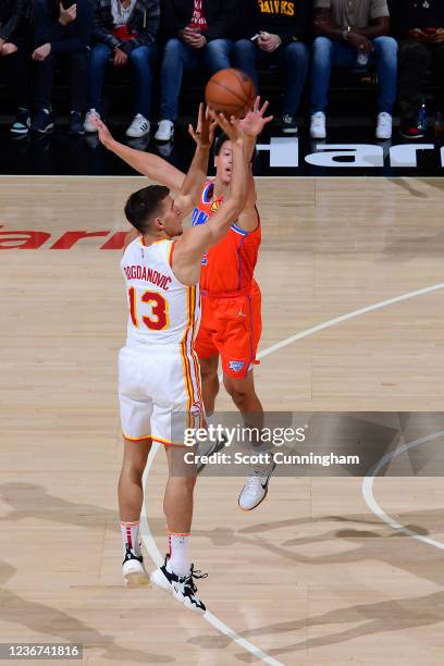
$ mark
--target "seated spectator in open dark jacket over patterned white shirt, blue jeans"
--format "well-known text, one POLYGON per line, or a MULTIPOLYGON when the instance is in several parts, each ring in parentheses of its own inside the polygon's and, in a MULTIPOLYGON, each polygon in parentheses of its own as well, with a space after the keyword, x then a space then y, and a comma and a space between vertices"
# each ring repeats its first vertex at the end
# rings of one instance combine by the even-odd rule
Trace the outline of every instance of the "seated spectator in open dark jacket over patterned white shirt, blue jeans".
POLYGON ((86 132, 97 132, 92 118, 102 112, 102 89, 107 64, 132 67, 135 96, 134 118, 126 136, 149 134, 152 90, 152 60, 159 30, 159 0, 92 0, 94 38, 89 66, 89 111, 86 132))

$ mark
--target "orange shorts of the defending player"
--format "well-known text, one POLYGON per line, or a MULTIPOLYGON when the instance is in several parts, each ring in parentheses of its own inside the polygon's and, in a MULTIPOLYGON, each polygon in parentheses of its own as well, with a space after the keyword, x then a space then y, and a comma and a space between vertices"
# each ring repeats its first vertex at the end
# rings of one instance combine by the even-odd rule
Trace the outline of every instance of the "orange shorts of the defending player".
POLYGON ((202 316, 195 348, 199 358, 219 354, 224 374, 244 378, 258 363, 262 332, 259 286, 243 296, 202 295, 202 316))

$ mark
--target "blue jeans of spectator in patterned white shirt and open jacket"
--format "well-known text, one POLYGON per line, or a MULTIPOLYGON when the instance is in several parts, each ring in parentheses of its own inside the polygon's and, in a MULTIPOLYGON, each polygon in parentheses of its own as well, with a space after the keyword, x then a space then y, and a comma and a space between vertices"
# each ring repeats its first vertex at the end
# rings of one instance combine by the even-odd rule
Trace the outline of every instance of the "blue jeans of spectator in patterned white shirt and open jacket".
MULTIPOLYGON (((128 55, 133 73, 135 92, 134 113, 149 118, 151 107, 152 73, 151 61, 155 55, 155 45, 137 47, 128 55)), ((110 62, 113 50, 106 44, 98 44, 91 51, 89 62, 89 108, 101 112, 104 70, 110 62)))

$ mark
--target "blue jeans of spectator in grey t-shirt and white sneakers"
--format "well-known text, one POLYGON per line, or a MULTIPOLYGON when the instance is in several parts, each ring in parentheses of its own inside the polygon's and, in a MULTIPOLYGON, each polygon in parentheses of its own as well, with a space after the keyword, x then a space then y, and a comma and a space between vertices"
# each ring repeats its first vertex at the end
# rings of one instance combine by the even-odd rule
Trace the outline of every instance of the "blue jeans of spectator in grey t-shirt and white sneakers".
MULTIPOLYGON (((375 37, 371 40, 374 51, 370 55, 378 70, 378 111, 392 113, 396 100, 397 42, 393 37, 375 37)), ((358 50, 347 44, 317 37, 313 42, 311 64, 311 112, 325 111, 332 66, 353 67, 357 64, 358 50)))

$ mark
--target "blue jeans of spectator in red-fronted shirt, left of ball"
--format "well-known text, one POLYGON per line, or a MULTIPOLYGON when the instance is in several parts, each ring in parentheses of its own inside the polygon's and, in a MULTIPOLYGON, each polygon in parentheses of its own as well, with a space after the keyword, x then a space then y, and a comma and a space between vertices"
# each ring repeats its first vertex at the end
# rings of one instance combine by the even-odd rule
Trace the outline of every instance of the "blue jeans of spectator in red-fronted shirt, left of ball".
POLYGON ((201 49, 194 49, 181 39, 169 39, 163 50, 160 70, 160 119, 174 122, 177 118, 178 95, 184 70, 205 64, 212 76, 219 70, 231 67, 230 39, 213 39, 201 49))

